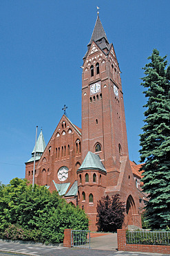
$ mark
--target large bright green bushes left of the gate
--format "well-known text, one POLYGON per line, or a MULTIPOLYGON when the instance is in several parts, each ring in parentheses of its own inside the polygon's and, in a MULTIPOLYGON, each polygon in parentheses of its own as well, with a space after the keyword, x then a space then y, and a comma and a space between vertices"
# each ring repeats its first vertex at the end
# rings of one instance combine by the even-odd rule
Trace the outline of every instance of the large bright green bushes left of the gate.
POLYGON ((32 190, 28 181, 15 178, 1 187, 0 232, 3 238, 3 234, 8 234, 8 238, 20 234, 23 239, 56 243, 63 241, 65 228, 87 230, 88 222, 83 210, 66 203, 57 192, 50 193, 44 186, 35 184, 32 190))

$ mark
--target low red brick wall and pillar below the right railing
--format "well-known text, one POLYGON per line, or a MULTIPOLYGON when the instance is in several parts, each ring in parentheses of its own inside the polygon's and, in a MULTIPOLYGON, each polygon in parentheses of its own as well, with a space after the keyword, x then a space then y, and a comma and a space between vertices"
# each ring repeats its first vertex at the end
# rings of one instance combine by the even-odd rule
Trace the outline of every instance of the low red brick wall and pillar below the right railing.
POLYGON ((153 245, 153 244, 127 244, 126 230, 118 229, 118 250, 144 253, 170 253, 170 246, 153 245))

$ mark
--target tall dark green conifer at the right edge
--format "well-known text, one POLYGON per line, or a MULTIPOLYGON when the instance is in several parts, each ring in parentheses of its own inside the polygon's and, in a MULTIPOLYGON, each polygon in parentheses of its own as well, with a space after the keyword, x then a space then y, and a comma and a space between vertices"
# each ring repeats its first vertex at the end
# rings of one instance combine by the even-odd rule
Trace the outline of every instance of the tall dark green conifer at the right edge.
POLYGON ((151 228, 170 226, 170 66, 166 58, 153 49, 141 83, 147 109, 140 134, 140 161, 145 162, 142 188, 149 194, 146 208, 151 228))

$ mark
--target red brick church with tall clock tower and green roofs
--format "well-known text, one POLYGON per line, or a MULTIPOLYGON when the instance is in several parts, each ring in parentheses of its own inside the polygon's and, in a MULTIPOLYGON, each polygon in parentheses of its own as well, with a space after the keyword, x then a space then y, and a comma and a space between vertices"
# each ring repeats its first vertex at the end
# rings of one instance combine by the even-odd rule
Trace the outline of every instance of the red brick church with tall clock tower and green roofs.
MULTIPOLYGON (((34 181, 83 208, 90 230, 96 230, 97 201, 116 193, 126 203, 125 226, 141 227, 145 195, 140 191, 139 166, 129 161, 120 69, 99 16, 82 70, 82 129, 63 115, 47 146, 41 130, 34 181)), ((34 154, 35 148, 25 163, 30 183, 34 154)))

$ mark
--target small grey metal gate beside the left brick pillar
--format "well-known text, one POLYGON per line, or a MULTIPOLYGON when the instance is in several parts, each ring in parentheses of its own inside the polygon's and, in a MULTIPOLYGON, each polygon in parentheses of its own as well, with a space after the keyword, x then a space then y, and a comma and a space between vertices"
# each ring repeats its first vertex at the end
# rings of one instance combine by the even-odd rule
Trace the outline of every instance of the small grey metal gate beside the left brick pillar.
POLYGON ((71 230, 71 246, 90 248, 89 230, 71 230))

